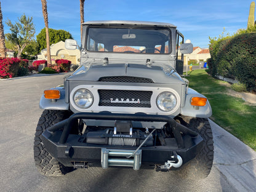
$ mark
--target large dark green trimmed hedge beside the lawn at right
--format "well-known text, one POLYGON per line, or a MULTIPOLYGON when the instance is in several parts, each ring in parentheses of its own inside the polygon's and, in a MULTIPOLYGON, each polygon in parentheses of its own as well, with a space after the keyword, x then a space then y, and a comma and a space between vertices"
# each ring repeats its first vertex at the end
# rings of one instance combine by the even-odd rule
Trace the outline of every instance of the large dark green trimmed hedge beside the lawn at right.
POLYGON ((207 60, 212 76, 238 79, 256 90, 256 33, 237 34, 210 44, 207 60))

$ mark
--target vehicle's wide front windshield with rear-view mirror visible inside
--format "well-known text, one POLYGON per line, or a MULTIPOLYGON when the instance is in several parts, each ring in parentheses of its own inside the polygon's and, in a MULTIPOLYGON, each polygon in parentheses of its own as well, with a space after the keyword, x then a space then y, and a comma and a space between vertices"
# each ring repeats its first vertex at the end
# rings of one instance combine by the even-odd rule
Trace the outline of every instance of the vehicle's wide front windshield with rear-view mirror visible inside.
POLYGON ((96 52, 170 54, 168 29, 90 27, 86 49, 96 52))

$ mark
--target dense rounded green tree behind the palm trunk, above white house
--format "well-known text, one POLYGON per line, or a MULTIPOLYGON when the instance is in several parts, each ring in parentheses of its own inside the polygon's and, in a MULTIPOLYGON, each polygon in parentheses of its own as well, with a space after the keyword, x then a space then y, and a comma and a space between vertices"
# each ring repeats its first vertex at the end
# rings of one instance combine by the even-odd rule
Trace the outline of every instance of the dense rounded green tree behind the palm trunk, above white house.
MULTIPOLYGON (((50 45, 55 44, 59 41, 65 41, 66 39, 73 39, 70 32, 65 30, 54 30, 49 28, 49 41, 50 45)), ((36 36, 38 42, 39 51, 46 49, 46 28, 43 28, 40 33, 36 36)))

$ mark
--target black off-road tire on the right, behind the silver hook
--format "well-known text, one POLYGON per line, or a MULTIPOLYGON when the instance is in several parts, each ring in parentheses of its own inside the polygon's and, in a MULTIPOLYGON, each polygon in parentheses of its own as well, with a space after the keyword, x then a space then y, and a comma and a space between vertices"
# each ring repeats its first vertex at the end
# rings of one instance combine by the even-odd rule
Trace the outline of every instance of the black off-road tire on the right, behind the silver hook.
POLYGON ((199 151, 194 159, 182 166, 178 170, 178 174, 181 177, 192 180, 206 178, 210 174, 212 162, 214 161, 214 142, 208 119, 180 116, 177 118, 177 121, 183 124, 183 126, 198 132, 204 139, 202 150, 199 151))

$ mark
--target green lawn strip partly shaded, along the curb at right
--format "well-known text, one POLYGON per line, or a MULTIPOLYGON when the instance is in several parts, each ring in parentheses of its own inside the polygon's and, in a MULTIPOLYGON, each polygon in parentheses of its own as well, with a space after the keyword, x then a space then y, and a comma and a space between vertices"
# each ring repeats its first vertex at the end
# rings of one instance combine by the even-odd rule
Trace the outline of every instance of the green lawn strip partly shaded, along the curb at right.
POLYGON ((226 94, 230 89, 224 85, 227 82, 212 78, 206 70, 194 70, 186 79, 192 89, 209 99, 210 119, 256 150, 256 106, 226 94))

